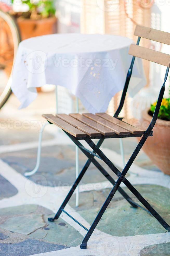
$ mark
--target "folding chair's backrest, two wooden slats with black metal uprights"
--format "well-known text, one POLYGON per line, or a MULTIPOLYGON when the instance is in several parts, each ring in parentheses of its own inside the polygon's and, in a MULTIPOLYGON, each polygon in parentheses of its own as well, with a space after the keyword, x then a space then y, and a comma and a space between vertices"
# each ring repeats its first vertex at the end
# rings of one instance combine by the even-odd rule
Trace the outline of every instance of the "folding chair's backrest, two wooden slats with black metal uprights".
POLYGON ((141 47, 141 46, 139 46, 139 42, 140 42, 140 38, 143 37, 143 38, 150 39, 150 40, 153 40, 153 41, 156 41, 156 42, 160 42, 160 43, 163 43, 163 44, 170 45, 170 33, 163 32, 163 31, 160 31, 160 30, 156 30, 156 29, 153 29, 153 28, 148 28, 148 27, 143 27, 143 26, 137 25, 136 29, 135 29, 135 32, 134 32, 134 35, 138 36, 138 41, 137 41, 136 45, 131 44, 130 48, 129 48, 129 54, 133 55, 133 58, 132 58, 130 68, 129 68, 128 73, 127 73, 126 82, 125 82, 125 86, 124 86, 124 89, 123 89, 123 92, 122 92, 122 97, 121 97, 121 100, 120 100, 120 104, 119 104, 119 107, 117 108, 117 110, 114 114, 114 117, 116 117, 116 118, 118 117, 118 115, 119 115, 119 113, 120 113, 120 111, 123 107, 126 92, 127 92, 128 85, 129 85, 129 81, 130 81, 130 78, 131 78, 131 75, 132 75, 132 70, 133 70, 135 57, 139 57, 139 58, 142 58, 142 59, 145 59, 145 60, 149 60, 149 61, 158 63, 160 65, 164 65, 164 66, 167 67, 166 68, 166 73, 165 73, 165 79, 164 79, 164 83, 162 84, 160 92, 159 92, 159 96, 158 96, 158 100, 157 100, 157 103, 156 103, 156 107, 155 107, 155 111, 154 111, 154 114, 153 114, 152 121, 151 121, 151 123, 148 126, 148 129, 146 131, 146 133, 149 134, 152 131, 152 129, 153 129, 155 123, 156 123, 156 120, 158 118, 159 109, 160 109, 160 106, 161 106, 162 98, 164 96, 165 82, 168 78, 168 72, 169 72, 169 67, 170 67, 170 55, 165 54, 165 53, 161 53, 159 51, 155 51, 155 50, 152 50, 152 49, 148 49, 148 48, 145 48, 145 47, 141 47))

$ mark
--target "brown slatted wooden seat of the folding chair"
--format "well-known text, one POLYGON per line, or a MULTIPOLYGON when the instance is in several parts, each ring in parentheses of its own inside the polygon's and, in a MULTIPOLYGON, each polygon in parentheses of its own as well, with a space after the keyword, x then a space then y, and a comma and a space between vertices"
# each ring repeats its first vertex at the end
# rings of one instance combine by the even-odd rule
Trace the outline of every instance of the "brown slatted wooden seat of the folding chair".
POLYGON ((143 130, 125 123, 106 113, 73 113, 42 115, 50 123, 60 127, 76 138, 87 135, 92 138, 141 137, 143 130))

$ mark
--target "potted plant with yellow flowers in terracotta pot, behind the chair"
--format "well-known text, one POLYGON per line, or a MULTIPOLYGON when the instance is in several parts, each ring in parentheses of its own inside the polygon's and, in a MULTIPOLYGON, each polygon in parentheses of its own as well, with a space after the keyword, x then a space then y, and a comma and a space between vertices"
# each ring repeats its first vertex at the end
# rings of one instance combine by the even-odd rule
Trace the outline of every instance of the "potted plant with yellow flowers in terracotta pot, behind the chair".
MULTIPOLYGON (((151 122, 156 102, 142 112, 141 124, 145 129, 151 122)), ((170 91, 169 97, 162 100, 153 137, 148 137, 142 149, 162 172, 170 175, 170 91)))

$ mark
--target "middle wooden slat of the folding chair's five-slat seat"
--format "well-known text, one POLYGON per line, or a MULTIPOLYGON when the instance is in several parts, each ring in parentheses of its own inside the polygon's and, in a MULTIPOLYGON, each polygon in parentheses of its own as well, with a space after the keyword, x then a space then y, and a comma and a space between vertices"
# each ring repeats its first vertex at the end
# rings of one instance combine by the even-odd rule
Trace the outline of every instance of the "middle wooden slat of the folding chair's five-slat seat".
POLYGON ((84 117, 83 115, 81 114, 78 114, 78 113, 72 113, 72 114, 69 114, 71 117, 74 117, 75 119, 81 121, 83 124, 86 124, 87 126, 99 131, 101 134, 103 134, 104 136, 108 136, 108 135, 114 135, 115 132, 100 125, 100 124, 97 124, 95 121, 92 121, 90 120, 89 118, 87 117, 84 117))

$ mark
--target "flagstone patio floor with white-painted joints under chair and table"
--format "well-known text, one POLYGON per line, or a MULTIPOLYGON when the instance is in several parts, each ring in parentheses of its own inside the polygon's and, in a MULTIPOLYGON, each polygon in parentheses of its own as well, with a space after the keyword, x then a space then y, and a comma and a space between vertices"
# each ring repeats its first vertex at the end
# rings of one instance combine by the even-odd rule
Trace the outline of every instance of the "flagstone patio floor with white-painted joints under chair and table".
MULTIPOLYGON (((12 115, 11 109, 17 104, 12 95, 0 112, 6 128, 0 129, 0 255, 170 255, 170 233, 147 212, 130 207, 119 192, 89 239, 86 250, 80 249, 86 231, 66 214, 61 214, 55 222, 48 222, 75 180, 75 146, 56 127, 48 125, 43 135, 38 172, 25 177, 24 172, 36 165, 38 131, 44 120, 40 107, 35 113, 29 112, 30 107, 21 110, 21 115, 20 110, 12 115), (7 113, 10 113, 8 118, 7 113), (24 118, 29 122, 28 129, 23 126, 24 118), (20 122, 18 129, 16 120, 20 122), (36 129, 31 129, 31 120, 38 120, 36 129)), ((123 139, 126 159, 136 144, 135 138, 123 139)), ((105 140, 102 150, 122 170, 119 140, 105 140)), ((81 169, 87 158, 79 152, 79 159, 81 169)), ((116 179, 115 174, 102 165, 116 179)), ((170 224, 170 177, 141 152, 127 179, 170 224)), ((79 207, 75 207, 74 194, 66 211, 88 228, 111 188, 91 164, 79 186, 79 207)), ((137 202, 127 188, 125 191, 137 202)))

